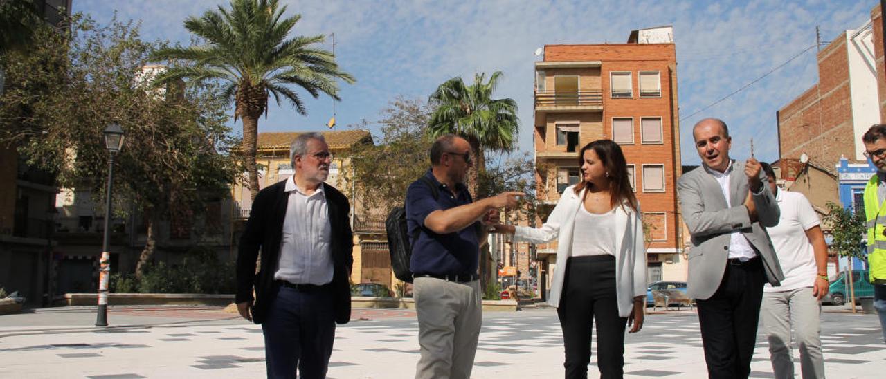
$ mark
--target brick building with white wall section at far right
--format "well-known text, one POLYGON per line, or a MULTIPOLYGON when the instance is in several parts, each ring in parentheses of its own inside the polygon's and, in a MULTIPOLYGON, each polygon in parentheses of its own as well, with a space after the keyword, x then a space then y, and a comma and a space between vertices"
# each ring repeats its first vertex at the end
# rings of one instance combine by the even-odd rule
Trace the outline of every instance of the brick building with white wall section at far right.
POLYGON ((841 156, 866 160, 861 135, 882 120, 886 101, 882 49, 879 5, 870 20, 821 48, 819 81, 777 112, 781 159, 806 154, 828 170, 841 156))

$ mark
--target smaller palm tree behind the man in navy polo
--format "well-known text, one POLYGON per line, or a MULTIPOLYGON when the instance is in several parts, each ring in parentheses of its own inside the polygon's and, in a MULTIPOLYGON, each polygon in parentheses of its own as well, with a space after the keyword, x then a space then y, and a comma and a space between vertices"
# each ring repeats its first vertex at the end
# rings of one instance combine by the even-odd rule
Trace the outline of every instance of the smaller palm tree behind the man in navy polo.
POLYGON ((470 143, 476 161, 468 175, 471 193, 477 197, 478 178, 486 170, 485 150, 514 151, 517 147, 517 102, 511 98, 492 98, 501 71, 496 71, 484 82, 486 73, 475 73, 474 83, 465 85, 461 77, 440 84, 431 94, 433 108, 428 122, 428 133, 459 135, 470 143))

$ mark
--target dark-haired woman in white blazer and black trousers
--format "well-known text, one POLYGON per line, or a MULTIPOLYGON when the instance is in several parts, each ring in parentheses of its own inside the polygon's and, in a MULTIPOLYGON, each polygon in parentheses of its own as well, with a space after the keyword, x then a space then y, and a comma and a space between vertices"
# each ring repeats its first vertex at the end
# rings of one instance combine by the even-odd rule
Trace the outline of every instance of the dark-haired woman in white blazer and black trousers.
POLYGON ((582 182, 563 191, 541 228, 496 225, 495 231, 534 244, 558 240, 548 303, 563 328, 565 376, 587 378, 596 321, 600 375, 620 378, 626 325, 640 331, 646 308, 643 223, 617 143, 588 143, 579 164, 582 182))

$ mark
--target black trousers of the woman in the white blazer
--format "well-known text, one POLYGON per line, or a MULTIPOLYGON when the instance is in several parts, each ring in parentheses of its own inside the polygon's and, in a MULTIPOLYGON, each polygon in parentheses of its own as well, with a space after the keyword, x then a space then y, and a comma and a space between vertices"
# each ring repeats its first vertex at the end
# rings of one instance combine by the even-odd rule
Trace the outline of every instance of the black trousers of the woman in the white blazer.
POLYGON ((566 378, 587 378, 591 328, 597 321, 597 367, 601 378, 620 378, 625 366, 626 317, 618 316, 615 257, 571 257, 556 310, 563 328, 566 378))

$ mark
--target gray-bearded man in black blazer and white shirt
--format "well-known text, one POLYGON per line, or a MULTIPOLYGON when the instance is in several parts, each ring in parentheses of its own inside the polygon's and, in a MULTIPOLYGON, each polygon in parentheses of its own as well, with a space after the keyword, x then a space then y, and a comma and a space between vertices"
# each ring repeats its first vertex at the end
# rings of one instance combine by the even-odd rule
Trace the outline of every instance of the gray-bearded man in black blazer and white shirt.
POLYGON ((290 156, 295 174, 259 192, 240 238, 237 310, 261 324, 268 377, 294 378, 298 367, 299 377, 323 378, 336 323, 351 318, 350 205, 324 183, 323 135, 299 135, 290 156))

